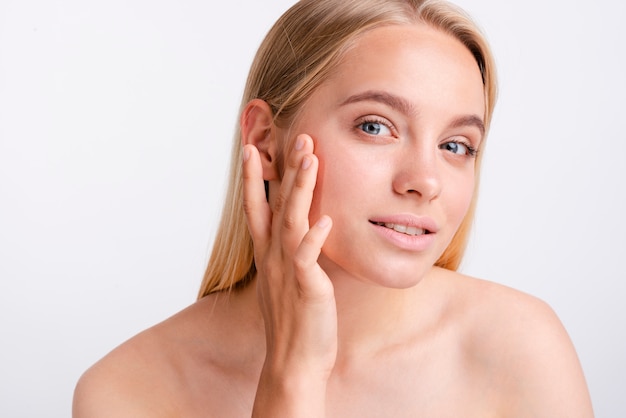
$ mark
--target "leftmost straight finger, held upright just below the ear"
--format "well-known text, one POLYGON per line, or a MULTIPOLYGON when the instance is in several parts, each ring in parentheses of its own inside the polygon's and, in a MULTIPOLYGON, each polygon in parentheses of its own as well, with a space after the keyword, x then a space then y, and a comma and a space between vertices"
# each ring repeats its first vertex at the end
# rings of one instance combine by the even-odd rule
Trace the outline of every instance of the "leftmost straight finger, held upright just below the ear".
POLYGON ((270 240, 272 212, 265 197, 263 168, 254 145, 243 148, 243 210, 255 247, 263 248, 270 240))

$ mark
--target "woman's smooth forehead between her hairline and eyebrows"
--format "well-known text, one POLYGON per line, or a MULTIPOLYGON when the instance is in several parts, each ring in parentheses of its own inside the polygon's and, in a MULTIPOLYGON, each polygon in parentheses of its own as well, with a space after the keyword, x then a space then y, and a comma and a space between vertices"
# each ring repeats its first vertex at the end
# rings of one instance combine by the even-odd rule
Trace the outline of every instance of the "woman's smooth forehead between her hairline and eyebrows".
POLYGON ((484 86, 474 56, 453 36, 425 24, 364 33, 320 90, 337 100, 364 90, 386 91, 420 108, 484 117, 484 86))

